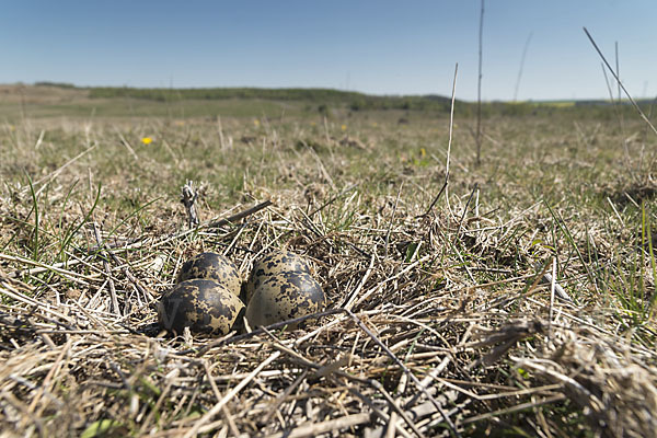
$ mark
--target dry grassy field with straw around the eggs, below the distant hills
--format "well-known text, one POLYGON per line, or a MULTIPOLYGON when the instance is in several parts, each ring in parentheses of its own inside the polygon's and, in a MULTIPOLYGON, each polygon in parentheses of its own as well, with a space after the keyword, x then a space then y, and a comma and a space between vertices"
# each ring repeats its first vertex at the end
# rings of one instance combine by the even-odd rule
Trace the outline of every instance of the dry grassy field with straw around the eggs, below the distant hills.
POLYGON ((476 165, 457 103, 445 186, 442 106, 274 97, 0 88, 3 436, 655 436, 638 116, 491 104, 476 165), (184 260, 246 276, 272 247, 309 257, 330 314, 160 332, 184 260))

